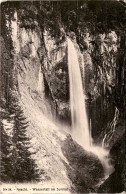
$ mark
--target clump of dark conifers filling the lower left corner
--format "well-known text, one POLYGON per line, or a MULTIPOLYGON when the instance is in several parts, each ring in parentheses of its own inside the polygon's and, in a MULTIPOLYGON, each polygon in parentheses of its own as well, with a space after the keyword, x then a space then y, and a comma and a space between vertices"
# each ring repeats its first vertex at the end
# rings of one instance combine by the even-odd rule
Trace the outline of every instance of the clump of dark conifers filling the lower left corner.
MULTIPOLYGON (((39 172, 33 153, 29 151, 28 122, 15 96, 9 98, 7 114, 3 116, 12 127, 7 129, 1 121, 1 163, 3 182, 27 182, 39 180, 39 172)), ((2 119, 2 120, 3 120, 2 119)))

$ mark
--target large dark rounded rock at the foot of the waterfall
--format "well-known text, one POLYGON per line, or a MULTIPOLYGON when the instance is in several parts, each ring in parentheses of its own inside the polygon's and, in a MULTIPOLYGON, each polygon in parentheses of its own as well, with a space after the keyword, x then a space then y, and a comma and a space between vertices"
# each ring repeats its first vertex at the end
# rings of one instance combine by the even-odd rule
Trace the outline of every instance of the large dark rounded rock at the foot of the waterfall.
POLYGON ((71 136, 64 141, 62 152, 69 162, 66 168, 74 190, 78 193, 93 191, 100 178, 104 176, 98 158, 74 142, 71 136))

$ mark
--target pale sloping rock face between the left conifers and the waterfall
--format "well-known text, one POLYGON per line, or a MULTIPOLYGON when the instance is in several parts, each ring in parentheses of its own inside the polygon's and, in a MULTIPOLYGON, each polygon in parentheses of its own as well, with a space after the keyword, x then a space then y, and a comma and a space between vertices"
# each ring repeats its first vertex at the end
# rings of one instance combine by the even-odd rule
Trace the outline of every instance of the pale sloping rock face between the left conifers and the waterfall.
MULTIPOLYGON (((33 158, 41 169, 41 182, 50 183, 52 186, 58 183, 62 187, 65 185, 70 188, 70 181, 62 162, 63 160, 67 163, 67 160, 58 142, 65 138, 65 134, 61 134, 55 124, 47 119, 47 117, 51 119, 52 112, 51 102, 45 98, 42 64, 39 57, 40 49, 44 48, 41 29, 37 21, 32 21, 34 29, 31 29, 31 22, 28 23, 27 20, 22 22, 23 13, 23 9, 14 12, 14 18, 10 21, 10 30, 14 47, 14 68, 17 73, 17 95, 24 115, 29 120, 27 135, 31 138, 33 147, 31 152, 36 152, 33 158)), ((50 90, 49 92, 51 94, 50 90)))

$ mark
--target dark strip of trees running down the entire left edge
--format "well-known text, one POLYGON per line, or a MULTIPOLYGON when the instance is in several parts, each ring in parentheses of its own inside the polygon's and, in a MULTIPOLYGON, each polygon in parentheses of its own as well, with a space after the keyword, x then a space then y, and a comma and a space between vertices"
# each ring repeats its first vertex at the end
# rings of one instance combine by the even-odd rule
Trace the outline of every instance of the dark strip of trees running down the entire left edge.
POLYGON ((39 172, 29 151, 28 122, 18 101, 17 76, 14 70, 14 50, 11 29, 7 28, 14 7, 2 4, 1 31, 1 181, 27 182, 39 180, 39 172), (6 24, 6 25, 5 25, 6 24))

